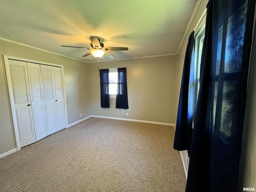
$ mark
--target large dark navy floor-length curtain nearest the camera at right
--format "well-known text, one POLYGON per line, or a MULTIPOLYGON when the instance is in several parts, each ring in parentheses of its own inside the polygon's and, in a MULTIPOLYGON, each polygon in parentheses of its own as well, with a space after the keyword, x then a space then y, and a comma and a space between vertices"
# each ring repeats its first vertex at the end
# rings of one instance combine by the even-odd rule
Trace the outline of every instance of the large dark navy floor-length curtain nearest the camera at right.
POLYGON ((186 192, 236 192, 255 0, 210 0, 186 192))

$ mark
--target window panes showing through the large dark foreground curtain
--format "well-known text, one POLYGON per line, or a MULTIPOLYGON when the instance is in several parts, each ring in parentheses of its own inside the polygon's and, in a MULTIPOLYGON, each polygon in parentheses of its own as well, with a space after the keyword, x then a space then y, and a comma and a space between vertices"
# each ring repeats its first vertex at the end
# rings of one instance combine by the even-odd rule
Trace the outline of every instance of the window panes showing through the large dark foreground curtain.
MULTIPOLYGON (((238 4, 239 5, 239 4, 238 4)), ((223 12, 220 15, 218 33, 216 32, 215 41, 218 42, 216 48, 215 86, 214 99, 212 102, 213 120, 212 125, 220 128, 220 138, 226 144, 232 143, 232 138, 236 135, 236 110, 240 83, 242 82, 242 71, 244 70, 244 45, 246 42, 246 13, 248 2, 245 1, 236 10, 230 8, 230 13, 223 12), (218 36, 217 36, 218 35, 218 36), (216 121, 220 120, 220 121, 216 121)))

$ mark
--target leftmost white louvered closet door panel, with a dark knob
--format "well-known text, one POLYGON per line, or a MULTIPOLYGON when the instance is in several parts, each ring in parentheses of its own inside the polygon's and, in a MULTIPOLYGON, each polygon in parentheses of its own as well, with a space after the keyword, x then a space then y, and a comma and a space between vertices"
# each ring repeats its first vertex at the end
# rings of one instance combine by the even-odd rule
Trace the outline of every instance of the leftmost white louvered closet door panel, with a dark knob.
POLYGON ((36 142, 26 62, 8 60, 18 123, 20 146, 36 142))

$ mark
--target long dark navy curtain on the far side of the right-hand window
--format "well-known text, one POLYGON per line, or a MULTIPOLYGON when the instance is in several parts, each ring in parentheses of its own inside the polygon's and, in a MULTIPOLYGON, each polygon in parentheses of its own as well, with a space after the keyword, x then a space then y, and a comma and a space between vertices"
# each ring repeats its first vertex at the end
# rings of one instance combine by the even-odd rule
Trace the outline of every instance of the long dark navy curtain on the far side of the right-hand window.
POLYGON ((194 31, 188 38, 188 46, 185 54, 182 81, 180 87, 180 100, 176 131, 174 137, 174 149, 188 150, 192 139, 192 117, 194 111, 194 31))

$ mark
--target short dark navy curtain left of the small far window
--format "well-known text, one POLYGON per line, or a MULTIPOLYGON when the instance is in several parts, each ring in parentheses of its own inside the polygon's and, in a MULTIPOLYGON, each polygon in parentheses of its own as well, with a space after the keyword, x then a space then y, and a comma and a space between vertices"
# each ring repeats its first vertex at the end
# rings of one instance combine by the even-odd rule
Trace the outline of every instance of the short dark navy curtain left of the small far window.
POLYGON ((108 69, 100 69, 100 106, 109 108, 108 69))

